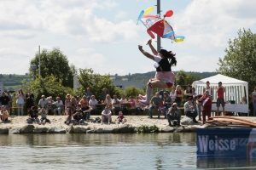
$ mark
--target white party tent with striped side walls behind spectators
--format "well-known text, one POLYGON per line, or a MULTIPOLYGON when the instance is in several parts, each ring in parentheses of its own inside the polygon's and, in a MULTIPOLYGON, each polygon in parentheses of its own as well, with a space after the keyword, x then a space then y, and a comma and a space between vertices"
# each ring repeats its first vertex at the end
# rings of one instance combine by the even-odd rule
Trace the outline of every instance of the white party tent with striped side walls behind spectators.
POLYGON ((242 97, 247 96, 248 105, 248 82, 218 74, 193 82, 192 87, 195 88, 197 94, 203 94, 203 88, 207 86, 207 81, 210 82, 210 86, 213 88, 213 99, 217 99, 216 88, 218 87, 218 82, 222 82, 226 90, 224 94, 225 101, 235 100, 235 103, 238 104, 242 97))

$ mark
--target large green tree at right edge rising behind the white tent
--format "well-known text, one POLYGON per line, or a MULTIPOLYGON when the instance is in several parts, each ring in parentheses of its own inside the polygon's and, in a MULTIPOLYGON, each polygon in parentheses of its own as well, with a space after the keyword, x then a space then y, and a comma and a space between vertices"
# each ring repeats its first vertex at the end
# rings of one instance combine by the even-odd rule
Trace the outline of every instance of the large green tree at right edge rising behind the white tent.
POLYGON ((256 34, 248 29, 240 29, 238 37, 229 40, 224 59, 218 59, 218 72, 228 77, 249 82, 249 91, 256 84, 256 34))

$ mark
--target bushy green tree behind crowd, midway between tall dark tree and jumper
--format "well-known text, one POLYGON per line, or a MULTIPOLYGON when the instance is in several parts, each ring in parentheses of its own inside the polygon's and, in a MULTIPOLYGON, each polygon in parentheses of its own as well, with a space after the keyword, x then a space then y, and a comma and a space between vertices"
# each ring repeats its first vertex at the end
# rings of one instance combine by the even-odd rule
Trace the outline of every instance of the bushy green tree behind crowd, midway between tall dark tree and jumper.
POLYGON ((113 85, 113 81, 110 75, 100 75, 94 73, 92 69, 79 69, 79 84, 78 94, 84 95, 86 88, 90 88, 90 91, 96 96, 97 100, 102 100, 102 89, 107 88, 108 94, 113 98, 113 94, 117 94, 119 97, 122 94, 122 90, 113 85))

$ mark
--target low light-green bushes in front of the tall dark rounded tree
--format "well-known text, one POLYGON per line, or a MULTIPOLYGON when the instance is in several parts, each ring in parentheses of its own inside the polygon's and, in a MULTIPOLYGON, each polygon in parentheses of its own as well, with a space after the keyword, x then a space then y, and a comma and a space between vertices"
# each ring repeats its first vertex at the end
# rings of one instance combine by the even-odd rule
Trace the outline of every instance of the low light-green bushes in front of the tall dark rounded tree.
POLYGON ((24 93, 27 93, 28 88, 32 89, 32 93, 35 96, 35 105, 38 105, 38 101, 43 94, 45 97, 52 96, 54 100, 59 96, 63 102, 67 94, 74 94, 72 88, 64 87, 61 80, 58 80, 53 75, 38 77, 32 82, 23 82, 22 89, 24 89, 24 93))

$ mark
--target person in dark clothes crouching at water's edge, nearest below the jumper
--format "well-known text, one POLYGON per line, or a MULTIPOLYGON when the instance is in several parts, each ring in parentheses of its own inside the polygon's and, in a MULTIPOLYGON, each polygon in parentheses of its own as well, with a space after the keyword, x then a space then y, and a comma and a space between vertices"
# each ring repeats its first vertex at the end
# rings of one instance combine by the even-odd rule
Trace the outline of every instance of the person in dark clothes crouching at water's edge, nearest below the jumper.
POLYGON ((180 126, 180 110, 177 108, 177 103, 173 103, 167 113, 167 119, 170 127, 180 126), (177 123, 176 123, 177 122, 177 123))

